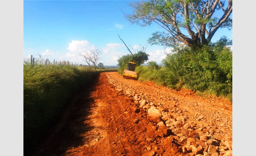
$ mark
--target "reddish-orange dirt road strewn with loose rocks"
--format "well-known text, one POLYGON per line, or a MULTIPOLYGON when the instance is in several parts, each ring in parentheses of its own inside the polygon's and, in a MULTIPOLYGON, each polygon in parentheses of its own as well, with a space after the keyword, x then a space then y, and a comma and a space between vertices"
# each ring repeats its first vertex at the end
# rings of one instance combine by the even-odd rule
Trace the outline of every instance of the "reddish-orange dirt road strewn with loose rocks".
POLYGON ((94 83, 35 155, 232 155, 232 103, 116 72, 94 83))

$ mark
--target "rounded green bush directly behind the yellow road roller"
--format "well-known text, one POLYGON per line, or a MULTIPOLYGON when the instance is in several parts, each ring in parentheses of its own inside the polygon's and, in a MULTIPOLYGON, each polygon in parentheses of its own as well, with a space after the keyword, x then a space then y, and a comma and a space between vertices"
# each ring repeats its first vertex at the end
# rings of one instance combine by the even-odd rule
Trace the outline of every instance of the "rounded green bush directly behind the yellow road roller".
POLYGON ((123 71, 127 69, 127 65, 129 62, 136 63, 136 67, 140 66, 141 64, 143 64, 145 61, 148 60, 148 56, 149 55, 147 53, 141 52, 141 51, 133 55, 127 54, 122 56, 117 60, 118 61, 117 65, 119 66, 118 73, 122 74, 123 71))

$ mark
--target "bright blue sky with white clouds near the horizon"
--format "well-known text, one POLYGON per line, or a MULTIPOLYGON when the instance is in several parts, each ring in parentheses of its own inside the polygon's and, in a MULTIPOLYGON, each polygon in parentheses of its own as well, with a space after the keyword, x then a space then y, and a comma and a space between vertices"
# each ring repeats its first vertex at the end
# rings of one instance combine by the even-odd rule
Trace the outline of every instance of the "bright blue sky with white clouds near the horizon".
MULTIPOLYGON (((147 27, 131 25, 122 12, 132 12, 127 5, 131 2, 24 1, 24 58, 40 54, 52 61, 86 64, 78 53, 99 48, 103 51, 99 62, 116 65, 119 57, 129 54, 119 34, 127 46, 140 49, 140 44, 148 45, 149 61, 161 63, 165 58, 164 51, 170 52, 171 47, 150 46, 147 40, 153 32, 163 29, 156 24, 147 27)), ((218 17, 220 11, 216 11, 215 16, 218 17)), ((223 35, 232 39, 232 30, 219 29, 212 41, 223 35)))

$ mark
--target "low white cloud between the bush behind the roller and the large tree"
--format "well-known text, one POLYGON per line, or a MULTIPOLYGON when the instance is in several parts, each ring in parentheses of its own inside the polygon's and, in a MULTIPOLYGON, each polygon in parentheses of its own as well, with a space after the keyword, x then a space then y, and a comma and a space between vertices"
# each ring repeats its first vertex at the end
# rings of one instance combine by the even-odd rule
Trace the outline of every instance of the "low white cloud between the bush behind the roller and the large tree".
POLYGON ((157 50, 155 52, 147 53, 149 54, 148 61, 156 61, 157 63, 161 63, 163 59, 165 59, 165 53, 171 53, 173 49, 166 48, 164 50, 157 50))

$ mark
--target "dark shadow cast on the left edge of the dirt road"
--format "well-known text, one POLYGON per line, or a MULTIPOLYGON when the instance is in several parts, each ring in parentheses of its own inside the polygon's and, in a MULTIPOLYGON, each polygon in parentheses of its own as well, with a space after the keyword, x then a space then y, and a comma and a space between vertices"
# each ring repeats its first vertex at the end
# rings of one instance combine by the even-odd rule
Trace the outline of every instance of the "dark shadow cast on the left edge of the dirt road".
POLYGON ((95 90, 98 82, 99 74, 78 91, 71 103, 63 110, 60 122, 47 132, 49 134, 47 138, 30 155, 63 155, 66 150, 79 147, 84 142, 90 141, 91 138, 86 138, 83 134, 98 128, 88 124, 91 115, 89 110, 95 107, 92 106, 94 99, 90 94, 95 90), (62 148, 60 149, 60 147, 62 148))

